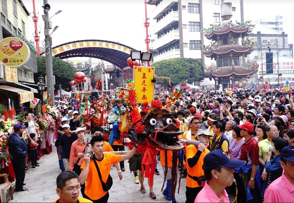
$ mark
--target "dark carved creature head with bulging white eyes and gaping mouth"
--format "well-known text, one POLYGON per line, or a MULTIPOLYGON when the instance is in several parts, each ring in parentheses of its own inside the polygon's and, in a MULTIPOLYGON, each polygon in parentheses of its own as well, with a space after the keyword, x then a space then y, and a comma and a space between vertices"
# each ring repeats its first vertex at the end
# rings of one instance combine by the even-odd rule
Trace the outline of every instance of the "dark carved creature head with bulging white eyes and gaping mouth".
POLYGON ((129 138, 139 145, 145 145, 146 139, 150 145, 158 149, 178 151, 179 135, 183 133, 175 125, 170 112, 163 108, 159 100, 152 101, 148 113, 141 111, 142 122, 137 122, 129 129, 129 138))

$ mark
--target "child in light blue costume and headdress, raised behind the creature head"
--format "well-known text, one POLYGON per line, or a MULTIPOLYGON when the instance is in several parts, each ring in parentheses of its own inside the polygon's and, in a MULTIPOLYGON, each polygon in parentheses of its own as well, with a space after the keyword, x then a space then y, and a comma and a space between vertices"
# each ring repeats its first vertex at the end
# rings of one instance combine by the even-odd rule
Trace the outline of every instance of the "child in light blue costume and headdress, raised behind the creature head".
POLYGON ((115 105, 111 110, 111 113, 108 117, 109 124, 113 124, 111 135, 109 138, 109 144, 112 146, 113 142, 119 137, 119 123, 121 122, 120 118, 125 114, 127 110, 124 105, 124 98, 116 98, 115 105))

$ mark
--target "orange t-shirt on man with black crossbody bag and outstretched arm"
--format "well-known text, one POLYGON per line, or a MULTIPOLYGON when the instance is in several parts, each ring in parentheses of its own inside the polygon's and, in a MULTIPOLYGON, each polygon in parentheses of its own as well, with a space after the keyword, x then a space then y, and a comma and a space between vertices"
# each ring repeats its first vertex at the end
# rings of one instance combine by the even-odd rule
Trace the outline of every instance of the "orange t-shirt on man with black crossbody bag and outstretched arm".
MULTIPOLYGON (((110 168, 112 164, 118 163, 121 159, 121 155, 115 155, 111 153, 104 153, 103 159, 101 161, 91 160, 89 165, 89 173, 86 180, 85 194, 91 200, 98 200, 101 197, 105 196, 107 192, 105 192, 102 188, 102 184, 100 178, 98 176, 97 169, 95 167, 94 161, 97 162, 102 181, 106 183, 110 168)), ((83 170, 86 165, 86 162, 83 163, 81 169, 83 170)))

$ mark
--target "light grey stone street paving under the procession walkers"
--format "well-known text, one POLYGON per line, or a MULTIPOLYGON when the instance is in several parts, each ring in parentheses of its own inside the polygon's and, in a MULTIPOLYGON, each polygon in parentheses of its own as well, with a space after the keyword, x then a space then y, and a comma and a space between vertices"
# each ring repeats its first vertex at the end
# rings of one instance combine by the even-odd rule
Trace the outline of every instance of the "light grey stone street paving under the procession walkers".
MULTIPOLYGON (((90 136, 87 134, 86 137, 90 136)), ((41 157, 40 166, 35 169, 29 168, 26 172, 25 181, 28 191, 14 192, 13 200, 9 202, 52 202, 58 199, 56 194, 56 177, 61 170, 58 165, 58 156, 56 147, 53 146, 53 151, 49 155, 41 157)), ((164 176, 163 170, 160 164, 157 169, 160 171, 160 175, 154 174, 154 186, 153 191, 157 195, 156 199, 152 199, 149 196, 149 186, 147 179, 144 180, 144 186, 146 193, 140 192, 140 184, 134 183, 134 174, 129 171, 128 161, 124 161, 126 171, 122 172, 123 180, 119 181, 117 170, 114 166, 110 171, 110 175, 113 178, 113 185, 109 190, 108 202, 171 202, 166 201, 165 197, 161 194, 161 187, 163 184, 164 176)), ((180 173, 180 172, 179 172, 180 173)), ((178 175, 179 181, 179 175, 178 175)), ((176 190, 176 200, 178 202, 186 201, 186 179, 181 179, 180 194, 176 190)), ((82 196, 80 194, 80 196, 82 196)))

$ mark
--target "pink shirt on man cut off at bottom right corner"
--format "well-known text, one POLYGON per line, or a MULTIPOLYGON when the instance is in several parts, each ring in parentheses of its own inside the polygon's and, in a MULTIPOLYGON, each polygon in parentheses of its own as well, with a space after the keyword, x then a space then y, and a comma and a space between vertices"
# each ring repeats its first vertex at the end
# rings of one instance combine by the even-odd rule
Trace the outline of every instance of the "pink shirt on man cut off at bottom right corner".
POLYGON ((266 188, 264 202, 294 202, 294 185, 284 172, 266 188))

